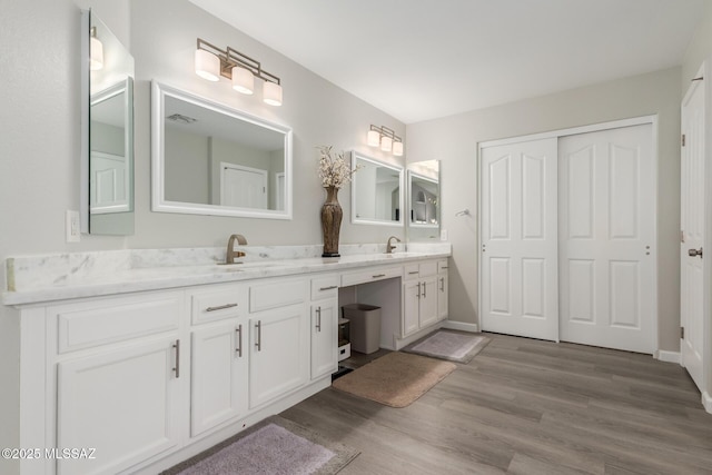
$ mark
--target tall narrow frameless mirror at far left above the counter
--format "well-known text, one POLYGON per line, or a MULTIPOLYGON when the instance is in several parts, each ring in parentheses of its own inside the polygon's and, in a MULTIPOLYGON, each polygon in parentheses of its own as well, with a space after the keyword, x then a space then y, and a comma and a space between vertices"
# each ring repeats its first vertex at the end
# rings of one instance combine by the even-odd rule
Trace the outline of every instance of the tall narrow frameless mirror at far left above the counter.
POLYGON ((81 230, 134 234, 134 58, 82 12, 81 230))

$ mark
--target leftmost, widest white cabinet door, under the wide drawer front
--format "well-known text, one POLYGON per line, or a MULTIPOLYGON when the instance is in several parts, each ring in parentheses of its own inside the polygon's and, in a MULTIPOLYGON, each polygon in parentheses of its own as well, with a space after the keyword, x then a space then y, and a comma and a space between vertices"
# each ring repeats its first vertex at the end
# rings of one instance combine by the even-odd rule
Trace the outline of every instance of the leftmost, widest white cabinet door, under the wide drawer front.
POLYGON ((180 443, 178 348, 151 340, 58 364, 58 447, 96 448, 58 459, 58 474, 118 473, 180 443))

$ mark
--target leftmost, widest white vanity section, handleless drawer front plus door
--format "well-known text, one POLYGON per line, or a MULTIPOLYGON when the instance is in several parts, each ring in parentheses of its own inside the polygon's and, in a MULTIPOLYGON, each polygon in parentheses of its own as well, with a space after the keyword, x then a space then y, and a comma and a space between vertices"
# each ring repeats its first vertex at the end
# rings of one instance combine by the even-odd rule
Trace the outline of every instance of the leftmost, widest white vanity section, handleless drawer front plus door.
POLYGON ((56 473, 117 473, 180 444, 181 303, 180 293, 151 293, 47 308, 57 439, 42 446, 96 449, 48 461, 56 473))

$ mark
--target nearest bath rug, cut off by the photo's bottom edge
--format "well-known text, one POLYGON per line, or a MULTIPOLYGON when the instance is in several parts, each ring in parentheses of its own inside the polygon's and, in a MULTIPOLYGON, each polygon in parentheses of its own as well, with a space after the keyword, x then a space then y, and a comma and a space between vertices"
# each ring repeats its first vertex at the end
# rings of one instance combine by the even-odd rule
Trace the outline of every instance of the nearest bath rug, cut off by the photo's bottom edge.
POLYGON ((271 416, 161 475, 336 474, 358 451, 271 416))

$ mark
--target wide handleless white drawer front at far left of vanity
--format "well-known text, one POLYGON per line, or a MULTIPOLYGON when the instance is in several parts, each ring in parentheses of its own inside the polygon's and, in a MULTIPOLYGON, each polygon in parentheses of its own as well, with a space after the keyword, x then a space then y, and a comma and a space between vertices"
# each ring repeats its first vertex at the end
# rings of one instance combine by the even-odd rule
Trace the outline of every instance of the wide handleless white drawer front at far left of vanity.
POLYGON ((50 307, 57 320, 58 352, 175 330, 181 301, 181 293, 161 293, 50 307))

